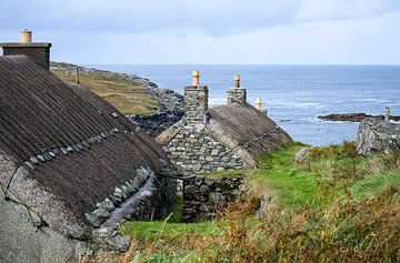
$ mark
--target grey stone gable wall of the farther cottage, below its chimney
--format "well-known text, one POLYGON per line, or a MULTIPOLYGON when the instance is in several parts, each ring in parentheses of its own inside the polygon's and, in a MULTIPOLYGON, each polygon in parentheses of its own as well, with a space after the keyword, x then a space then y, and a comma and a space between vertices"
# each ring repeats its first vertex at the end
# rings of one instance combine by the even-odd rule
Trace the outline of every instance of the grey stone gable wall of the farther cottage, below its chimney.
POLYGON ((163 146, 186 172, 244 170, 247 165, 203 125, 186 125, 163 146))

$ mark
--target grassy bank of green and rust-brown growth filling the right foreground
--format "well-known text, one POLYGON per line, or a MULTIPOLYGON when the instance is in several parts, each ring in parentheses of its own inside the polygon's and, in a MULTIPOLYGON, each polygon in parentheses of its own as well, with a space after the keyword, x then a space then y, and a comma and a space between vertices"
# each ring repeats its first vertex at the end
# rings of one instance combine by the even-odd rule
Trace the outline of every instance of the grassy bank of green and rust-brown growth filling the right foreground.
POLYGON ((296 162, 301 148, 287 145, 244 172, 256 194, 274 193, 264 219, 247 199, 216 221, 183 224, 179 202, 163 222, 122 224, 132 246, 103 262, 399 262, 400 153, 362 158, 346 142, 296 162))

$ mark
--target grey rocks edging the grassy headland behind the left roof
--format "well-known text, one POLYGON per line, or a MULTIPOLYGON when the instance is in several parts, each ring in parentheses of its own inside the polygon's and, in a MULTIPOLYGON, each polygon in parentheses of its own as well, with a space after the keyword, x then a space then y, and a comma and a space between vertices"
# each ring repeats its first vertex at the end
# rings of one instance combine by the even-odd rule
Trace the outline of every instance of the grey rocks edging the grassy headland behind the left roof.
POLYGON ((118 73, 71 63, 51 62, 51 69, 62 70, 70 74, 74 74, 77 68, 80 75, 91 75, 100 80, 114 80, 121 84, 142 87, 142 92, 153 98, 160 107, 150 114, 128 115, 128 118, 152 136, 157 136, 161 131, 178 122, 184 114, 183 95, 173 90, 160 89, 149 79, 136 74, 118 73))

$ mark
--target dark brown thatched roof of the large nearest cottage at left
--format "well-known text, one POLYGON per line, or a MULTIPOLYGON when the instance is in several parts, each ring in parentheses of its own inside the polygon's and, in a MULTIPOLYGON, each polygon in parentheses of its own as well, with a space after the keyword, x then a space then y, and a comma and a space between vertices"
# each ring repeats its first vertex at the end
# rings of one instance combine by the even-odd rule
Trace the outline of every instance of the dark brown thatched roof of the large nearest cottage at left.
POLYGON ((81 237, 83 214, 136 169, 158 171, 160 159, 167 160, 153 139, 108 102, 23 55, 0 57, 0 183, 11 182, 23 203, 72 236, 81 237), (38 156, 44 162, 23 164, 38 156))

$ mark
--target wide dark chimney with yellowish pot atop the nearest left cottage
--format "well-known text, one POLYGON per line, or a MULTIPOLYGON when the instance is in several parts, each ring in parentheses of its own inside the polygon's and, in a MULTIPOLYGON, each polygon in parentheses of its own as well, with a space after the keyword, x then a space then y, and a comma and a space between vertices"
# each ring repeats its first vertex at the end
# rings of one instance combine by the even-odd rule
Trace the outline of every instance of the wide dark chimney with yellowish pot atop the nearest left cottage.
POLYGON ((23 54, 49 70, 51 43, 32 42, 32 32, 28 29, 21 31, 20 39, 21 42, 0 43, 3 55, 23 54))

